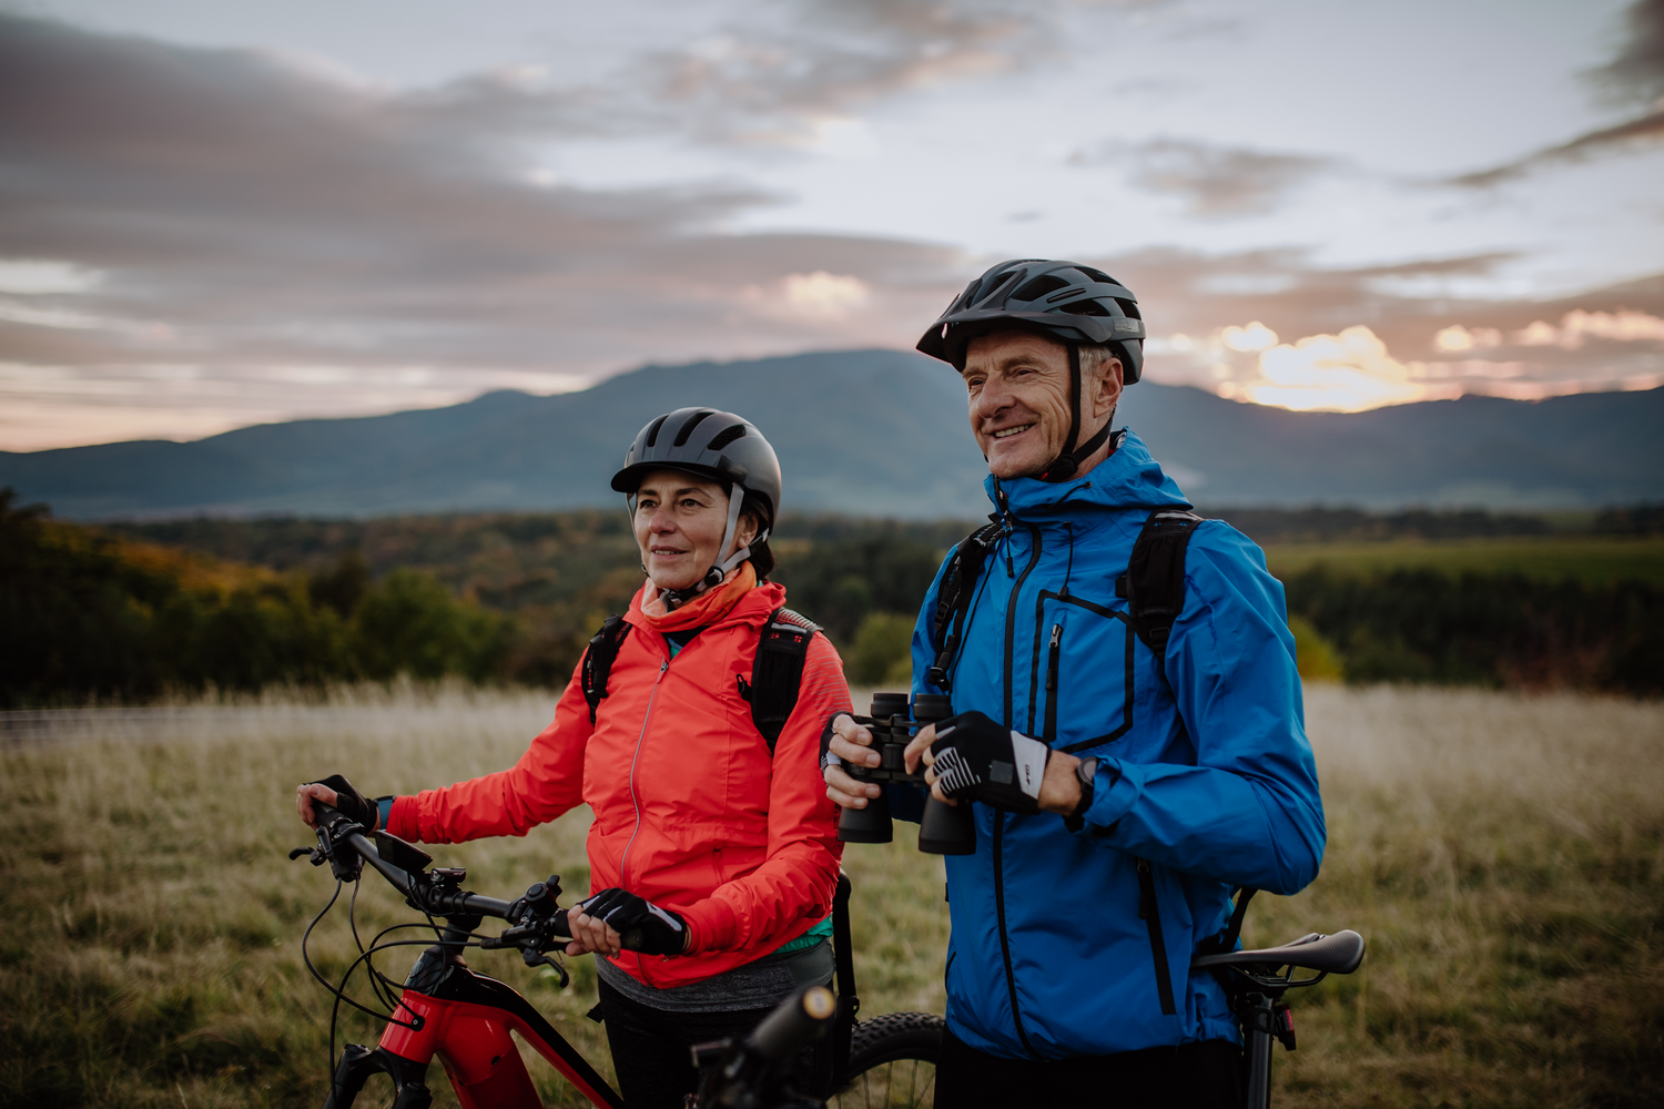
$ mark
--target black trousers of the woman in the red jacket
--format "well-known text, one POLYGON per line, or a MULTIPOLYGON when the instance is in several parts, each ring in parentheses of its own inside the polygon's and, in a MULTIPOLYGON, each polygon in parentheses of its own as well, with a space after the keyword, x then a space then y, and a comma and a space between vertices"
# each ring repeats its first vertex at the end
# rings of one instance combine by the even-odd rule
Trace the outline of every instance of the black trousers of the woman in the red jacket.
MULTIPOLYGON (((629 1109, 682 1109, 682 1097, 699 1087, 699 1071, 689 1049, 730 1036, 742 1038, 774 1008, 722 1013, 671 1013, 631 1001, 601 979, 601 1018, 607 1026, 612 1069, 629 1109)), ((807 1091, 815 1074, 815 1052, 805 1049, 790 1077, 807 1091)), ((830 1064, 830 1056, 825 1059, 830 1064)))

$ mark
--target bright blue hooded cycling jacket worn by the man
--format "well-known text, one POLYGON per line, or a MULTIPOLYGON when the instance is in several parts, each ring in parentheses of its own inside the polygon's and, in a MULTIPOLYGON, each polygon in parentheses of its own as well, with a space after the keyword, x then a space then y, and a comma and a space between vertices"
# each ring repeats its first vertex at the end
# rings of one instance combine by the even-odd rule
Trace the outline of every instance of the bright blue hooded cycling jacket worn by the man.
MULTIPOLYGON (((1201 524, 1163 682, 1115 597, 1150 512, 1186 505, 1145 446, 1128 434, 1085 477, 1003 492, 1008 530, 975 587, 953 712, 1100 763, 1077 833, 975 805, 977 853, 947 856, 948 1028, 1005 1057, 1235 1041, 1191 954, 1225 928, 1233 886, 1295 893, 1325 845, 1283 587, 1245 535, 1201 524)), ((914 630, 915 675, 935 662, 940 582, 914 630)), ((942 690, 919 677, 914 692, 942 690)), ((895 813, 917 818, 922 793, 907 793, 895 813)))

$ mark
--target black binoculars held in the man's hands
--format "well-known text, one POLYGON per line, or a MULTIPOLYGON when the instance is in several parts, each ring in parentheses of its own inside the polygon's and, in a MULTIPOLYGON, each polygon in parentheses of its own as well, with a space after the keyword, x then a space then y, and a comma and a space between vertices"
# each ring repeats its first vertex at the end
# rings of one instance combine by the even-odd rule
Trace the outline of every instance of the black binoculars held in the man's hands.
MULTIPOLYGON (((844 770, 857 781, 875 781, 887 786, 892 781, 907 781, 922 788, 925 773, 920 765, 915 773, 907 773, 902 752, 914 733, 927 723, 937 723, 953 715, 948 698, 935 693, 920 693, 909 712, 907 693, 874 693, 872 723, 865 725, 872 732, 872 748, 882 760, 877 766, 855 766, 844 763, 844 770)), ((867 798, 867 808, 845 808, 837 821, 837 838, 844 843, 889 843, 895 838, 895 826, 890 820, 889 791, 867 798)), ((925 818, 919 825, 919 850, 930 855, 975 855, 977 823, 970 805, 943 805, 935 796, 925 798, 925 818)))

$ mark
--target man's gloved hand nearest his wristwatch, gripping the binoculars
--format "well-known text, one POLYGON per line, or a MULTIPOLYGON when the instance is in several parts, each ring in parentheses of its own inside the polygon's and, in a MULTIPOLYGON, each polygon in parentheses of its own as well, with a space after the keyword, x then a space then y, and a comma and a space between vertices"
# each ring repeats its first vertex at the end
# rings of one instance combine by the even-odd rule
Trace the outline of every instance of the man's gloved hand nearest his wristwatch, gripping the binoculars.
POLYGON ((1030 740, 1027 735, 1010 732, 980 712, 960 713, 958 717, 943 720, 940 725, 920 728, 919 735, 907 745, 904 758, 909 771, 917 770, 920 763, 925 765, 925 781, 930 783, 930 795, 948 805, 957 805, 962 800, 985 801, 997 808, 1020 813, 1047 811, 1062 815, 1073 813, 1075 806, 1080 805, 1080 781, 1075 780, 1078 758, 1063 752, 1050 752, 1040 740, 1030 740), (968 727, 965 727, 967 723, 968 727), (1033 747, 1020 747, 1018 742, 1023 745, 1032 743, 1033 747), (945 750, 955 752, 948 760, 948 766, 940 763, 945 750), (1030 785, 1035 788, 1033 795, 1027 790, 1018 791, 1013 788, 1018 770, 1018 750, 1030 762, 1038 760, 1043 768, 1037 781, 1030 780, 1030 785), (992 768, 995 762, 1003 762, 1010 768, 1008 771, 1000 771, 1002 775, 1008 775, 1007 783, 972 781, 977 776, 978 766, 987 766, 985 775, 988 778, 995 776, 992 768), (950 766, 957 771, 952 778, 948 778, 950 766), (1017 793, 1017 796, 1012 796, 1012 793, 1017 793))

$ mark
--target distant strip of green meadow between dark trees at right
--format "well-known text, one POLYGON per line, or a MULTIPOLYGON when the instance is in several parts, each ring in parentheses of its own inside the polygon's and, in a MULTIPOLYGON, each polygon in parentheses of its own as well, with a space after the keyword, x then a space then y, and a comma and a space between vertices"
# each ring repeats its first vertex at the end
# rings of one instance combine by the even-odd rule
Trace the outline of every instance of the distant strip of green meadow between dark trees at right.
POLYGON ((1664 585, 1664 539, 1607 535, 1509 535, 1496 539, 1388 539, 1270 544, 1271 572, 1288 579, 1315 565, 1338 574, 1439 570, 1443 574, 1524 574, 1604 585, 1636 579, 1664 585))

